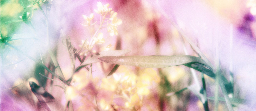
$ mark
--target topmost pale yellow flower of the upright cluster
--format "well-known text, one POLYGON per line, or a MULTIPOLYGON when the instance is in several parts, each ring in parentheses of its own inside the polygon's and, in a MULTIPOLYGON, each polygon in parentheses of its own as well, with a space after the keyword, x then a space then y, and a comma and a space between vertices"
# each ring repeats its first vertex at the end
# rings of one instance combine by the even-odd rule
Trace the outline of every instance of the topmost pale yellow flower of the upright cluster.
POLYGON ((112 8, 108 8, 109 7, 108 3, 105 5, 102 5, 101 2, 97 2, 97 7, 98 9, 97 10, 95 9, 94 11, 100 14, 101 16, 106 16, 112 11, 112 8))

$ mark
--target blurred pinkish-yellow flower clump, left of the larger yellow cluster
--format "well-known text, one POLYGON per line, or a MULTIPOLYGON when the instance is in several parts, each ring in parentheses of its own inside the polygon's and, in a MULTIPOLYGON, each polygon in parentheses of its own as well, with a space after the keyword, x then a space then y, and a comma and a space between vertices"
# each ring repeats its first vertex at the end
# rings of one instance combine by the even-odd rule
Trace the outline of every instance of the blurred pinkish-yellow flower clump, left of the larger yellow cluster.
POLYGON ((79 102, 82 103, 82 105, 78 107, 79 110, 86 109, 91 111, 97 108, 95 97, 99 89, 96 85, 98 81, 89 75, 90 74, 85 69, 81 69, 73 75, 71 86, 67 86, 65 90, 67 101, 79 99, 79 102))

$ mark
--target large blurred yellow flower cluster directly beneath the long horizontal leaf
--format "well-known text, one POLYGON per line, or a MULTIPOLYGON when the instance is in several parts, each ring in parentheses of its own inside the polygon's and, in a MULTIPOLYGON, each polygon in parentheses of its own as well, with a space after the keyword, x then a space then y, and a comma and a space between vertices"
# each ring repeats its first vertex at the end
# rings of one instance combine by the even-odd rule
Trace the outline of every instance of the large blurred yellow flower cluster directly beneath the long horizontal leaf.
POLYGON ((143 96, 150 94, 150 86, 159 82, 160 77, 151 68, 142 69, 136 75, 131 69, 120 67, 117 73, 102 79, 100 91, 108 92, 110 97, 100 98, 100 107, 104 110, 140 109, 143 96))

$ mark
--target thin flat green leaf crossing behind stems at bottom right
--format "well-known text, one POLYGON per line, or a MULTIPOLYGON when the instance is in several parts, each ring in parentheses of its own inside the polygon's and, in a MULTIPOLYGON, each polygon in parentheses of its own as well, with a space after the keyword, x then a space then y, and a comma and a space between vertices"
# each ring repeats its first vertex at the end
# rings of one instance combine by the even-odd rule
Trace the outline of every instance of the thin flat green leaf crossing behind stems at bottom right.
MULTIPOLYGON (((211 99, 211 100, 214 100, 214 97, 207 97, 208 99, 211 99)), ((249 100, 247 99, 241 99, 241 98, 234 98, 234 97, 231 97, 229 98, 230 99, 230 102, 232 104, 248 104, 248 102, 250 103, 249 100)), ((224 97, 218 97, 218 101, 225 101, 225 98, 224 97)))

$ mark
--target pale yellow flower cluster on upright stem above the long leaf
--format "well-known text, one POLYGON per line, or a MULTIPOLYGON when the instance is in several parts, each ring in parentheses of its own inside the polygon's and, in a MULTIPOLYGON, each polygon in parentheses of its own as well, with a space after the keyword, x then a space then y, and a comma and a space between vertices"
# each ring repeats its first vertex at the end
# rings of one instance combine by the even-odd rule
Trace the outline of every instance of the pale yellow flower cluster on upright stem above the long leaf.
MULTIPOLYGON (((112 10, 112 8, 109 8, 109 4, 103 5, 101 2, 97 2, 98 9, 94 10, 97 14, 100 15, 100 24, 95 32, 93 34, 93 37, 89 41, 82 41, 83 45, 80 45, 81 50, 80 55, 87 55, 88 53, 95 53, 96 51, 93 50, 93 47, 95 44, 102 44, 105 43, 105 39, 103 38, 103 33, 99 32, 100 29, 104 28, 103 26, 108 27, 108 32, 110 33, 110 36, 118 35, 117 26, 122 24, 122 20, 117 18, 117 13, 112 10), (106 23, 106 24, 104 24, 106 23), (97 37, 96 37, 97 36, 97 37)), ((91 21, 94 19, 94 14, 91 13, 90 16, 82 15, 82 17, 85 19, 86 24, 82 24, 84 26, 91 26, 96 24, 96 22, 91 23, 91 21)), ((109 45, 111 46, 111 45, 109 45)))

